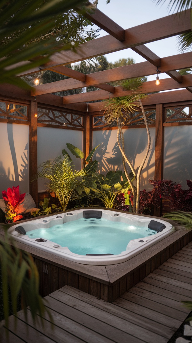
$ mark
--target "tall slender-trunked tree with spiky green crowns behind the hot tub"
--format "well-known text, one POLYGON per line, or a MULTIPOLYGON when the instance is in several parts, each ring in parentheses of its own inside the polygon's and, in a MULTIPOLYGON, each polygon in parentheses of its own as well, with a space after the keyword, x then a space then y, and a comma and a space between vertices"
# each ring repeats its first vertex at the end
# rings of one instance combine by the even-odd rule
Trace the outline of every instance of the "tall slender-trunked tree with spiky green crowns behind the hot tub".
POLYGON ((130 95, 119 97, 119 98, 111 98, 110 100, 104 100, 105 102, 107 102, 107 105, 105 106, 106 109, 104 110, 105 121, 109 125, 112 124, 113 122, 117 124, 117 144, 122 155, 124 172, 130 184, 131 191, 133 193, 133 212, 137 212, 137 213, 139 213, 140 175, 141 175, 143 165, 148 156, 150 144, 151 144, 148 122, 146 120, 146 116, 145 116, 143 106, 141 103, 141 99, 146 97, 145 94, 141 94, 140 92, 142 83, 143 83, 143 78, 125 80, 122 82, 122 87, 126 90, 131 91, 130 95), (134 113, 135 110, 137 110, 138 108, 141 108, 143 118, 145 121, 145 126, 146 126, 147 134, 148 134, 148 146, 147 146, 143 161, 139 169, 136 171, 136 169, 133 167, 131 161, 128 159, 125 153, 124 135, 123 135, 122 127, 129 122, 130 117, 131 117, 130 115, 134 113), (133 182, 130 180, 128 176, 126 163, 128 164, 133 175, 137 179, 137 187, 133 185, 133 182))

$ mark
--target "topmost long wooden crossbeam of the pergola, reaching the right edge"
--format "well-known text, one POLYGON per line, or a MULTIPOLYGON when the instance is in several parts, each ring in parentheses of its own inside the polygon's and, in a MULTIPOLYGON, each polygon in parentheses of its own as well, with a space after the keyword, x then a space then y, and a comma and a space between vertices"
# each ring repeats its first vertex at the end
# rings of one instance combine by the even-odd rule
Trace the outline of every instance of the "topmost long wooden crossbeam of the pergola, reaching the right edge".
MULTIPOLYGON (((159 39, 179 35, 191 30, 190 9, 178 14, 168 15, 145 24, 141 24, 125 30, 125 40, 120 42, 111 35, 90 40, 80 44, 75 51, 64 50, 51 56, 50 62, 41 66, 42 70, 56 66, 63 66, 92 57, 110 54, 111 52, 132 48, 145 43, 154 42, 159 39)), ((27 62, 22 62, 27 63, 27 62)), ((20 64, 17 63, 19 66, 20 64)), ((170 69, 171 70, 171 69, 170 69)), ((39 68, 30 69, 20 73, 18 76, 38 72, 39 68)))

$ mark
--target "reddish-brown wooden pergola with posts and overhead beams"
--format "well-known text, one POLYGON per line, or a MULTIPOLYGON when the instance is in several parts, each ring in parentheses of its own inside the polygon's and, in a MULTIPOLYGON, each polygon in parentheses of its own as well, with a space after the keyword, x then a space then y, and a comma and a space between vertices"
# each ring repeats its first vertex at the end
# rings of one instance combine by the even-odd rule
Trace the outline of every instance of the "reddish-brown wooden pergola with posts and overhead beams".
MULTIPOLYGON (((94 24, 105 30, 108 35, 91 40, 79 45, 76 50, 63 50, 51 56, 49 63, 30 69, 30 61, 23 61, 18 64, 28 64, 29 69, 19 76, 37 73, 43 70, 52 70, 59 74, 69 76, 69 79, 43 84, 35 87, 34 92, 28 92, 10 85, 0 86, 0 100, 4 102, 14 102, 26 104, 28 106, 27 119, 6 119, 0 118, 2 122, 22 123, 29 125, 29 182, 30 194, 37 203, 37 181, 31 183, 37 173, 37 126, 51 126, 62 129, 84 131, 84 151, 88 155, 91 149, 91 133, 93 130, 111 129, 102 122, 103 105, 101 102, 89 103, 94 100, 108 99, 117 96, 129 95, 130 91, 123 90, 122 87, 111 86, 108 83, 113 81, 136 78, 140 76, 156 74, 157 67, 161 72, 170 76, 161 80, 160 85, 155 85, 155 81, 144 82, 142 92, 153 93, 158 91, 168 91, 163 93, 150 94, 143 100, 144 109, 156 109, 155 120, 150 121, 150 127, 156 128, 155 133, 155 179, 162 179, 163 176, 163 130, 165 126, 179 126, 192 124, 192 74, 181 76, 177 70, 192 67, 192 52, 160 58, 144 44, 154 42, 171 36, 176 36, 191 31, 190 10, 180 15, 173 14, 154 20, 142 25, 138 25, 124 30, 100 10, 94 14, 87 13, 87 18, 94 24), (104 70, 91 74, 83 74, 73 69, 65 67, 67 64, 86 60, 92 57, 106 55, 108 53, 131 48, 141 55, 146 62, 131 64, 110 70, 104 70), (95 86, 97 91, 69 95, 57 96, 52 93, 75 88, 95 86), (179 90, 179 88, 185 88, 179 90), (178 89, 175 91, 175 89, 178 89), (180 116, 177 120, 171 121, 166 118, 164 108, 179 105, 190 107, 189 115, 186 118, 180 116), (37 117, 38 108, 59 111, 65 117, 65 124, 59 121, 59 117, 49 117, 44 122, 40 116, 37 117), (88 111, 87 111, 88 109, 88 111), (65 115, 71 114, 71 119, 65 115), (183 119, 186 119, 183 121, 183 119)), ((184 108, 184 107, 183 107, 184 108)), ((47 112, 48 113, 48 112, 47 112)), ((10 117, 10 116, 9 116, 10 117)), ((149 116, 148 116, 149 117, 149 116)), ((172 116, 174 117, 174 116, 172 116)), ((137 121, 141 120, 138 119, 137 121)), ((138 126, 129 126, 134 128, 138 126)), ((143 127, 141 125, 139 127, 143 127)))

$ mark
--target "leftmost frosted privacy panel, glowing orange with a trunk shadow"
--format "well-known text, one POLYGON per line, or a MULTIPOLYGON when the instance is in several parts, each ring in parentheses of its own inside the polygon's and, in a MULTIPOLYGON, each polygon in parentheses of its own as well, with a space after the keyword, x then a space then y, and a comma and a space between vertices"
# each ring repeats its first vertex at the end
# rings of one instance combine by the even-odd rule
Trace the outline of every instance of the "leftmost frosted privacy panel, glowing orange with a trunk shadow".
POLYGON ((28 125, 0 123, 0 198, 8 187, 29 192, 28 142, 28 125))

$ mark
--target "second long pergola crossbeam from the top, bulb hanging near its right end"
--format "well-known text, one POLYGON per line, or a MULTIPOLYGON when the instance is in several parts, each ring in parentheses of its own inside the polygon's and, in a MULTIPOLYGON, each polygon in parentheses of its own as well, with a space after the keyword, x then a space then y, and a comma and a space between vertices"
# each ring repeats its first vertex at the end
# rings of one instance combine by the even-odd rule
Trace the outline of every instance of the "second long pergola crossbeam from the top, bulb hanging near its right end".
MULTIPOLYGON (((189 67, 192 67, 192 52, 186 52, 185 54, 164 57, 161 59, 161 72, 189 67)), ((86 82, 81 82, 74 79, 66 79, 36 86, 34 93, 31 92, 31 95, 41 95, 75 88, 96 86, 98 84, 153 75, 155 73, 156 68, 150 62, 140 62, 136 64, 130 64, 129 66, 87 74, 86 82)))

